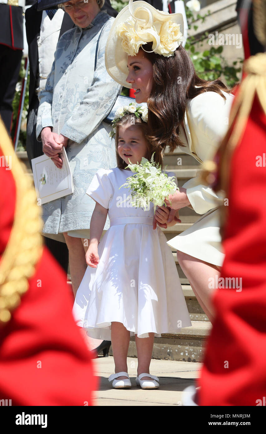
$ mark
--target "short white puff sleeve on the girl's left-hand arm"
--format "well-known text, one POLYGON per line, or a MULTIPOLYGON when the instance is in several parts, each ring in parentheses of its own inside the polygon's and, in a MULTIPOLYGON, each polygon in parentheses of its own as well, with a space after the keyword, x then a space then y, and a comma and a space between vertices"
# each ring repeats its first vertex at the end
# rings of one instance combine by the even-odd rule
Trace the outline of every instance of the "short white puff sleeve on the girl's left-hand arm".
POLYGON ((91 184, 86 191, 95 202, 98 202, 102 207, 108 209, 109 201, 113 195, 113 188, 110 182, 108 172, 106 169, 97 170, 92 178, 91 184))

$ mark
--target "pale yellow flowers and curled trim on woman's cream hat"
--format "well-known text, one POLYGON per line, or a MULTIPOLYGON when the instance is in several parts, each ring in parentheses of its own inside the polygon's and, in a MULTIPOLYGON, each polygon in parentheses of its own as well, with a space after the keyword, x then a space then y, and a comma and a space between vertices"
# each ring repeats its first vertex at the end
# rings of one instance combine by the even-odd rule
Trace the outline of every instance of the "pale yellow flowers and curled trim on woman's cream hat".
POLYGON ((185 40, 180 31, 180 24, 168 20, 154 21, 148 8, 139 7, 135 13, 138 10, 148 12, 148 22, 134 15, 133 2, 130 1, 130 18, 117 26, 116 35, 122 39, 123 51, 129 56, 136 56, 142 44, 152 42, 152 51, 149 53, 154 51, 165 57, 173 56, 177 47, 185 40))

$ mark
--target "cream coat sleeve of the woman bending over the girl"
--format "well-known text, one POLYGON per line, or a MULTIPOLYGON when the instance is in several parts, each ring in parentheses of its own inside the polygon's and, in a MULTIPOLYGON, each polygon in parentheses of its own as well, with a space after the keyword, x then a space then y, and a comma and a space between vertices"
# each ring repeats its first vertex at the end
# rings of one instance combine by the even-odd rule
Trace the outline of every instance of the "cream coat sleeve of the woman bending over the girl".
MULTIPOLYGON (((207 161, 214 157, 217 147, 227 132, 230 108, 233 95, 224 92, 226 101, 216 92, 205 92, 191 100, 188 109, 188 121, 193 143, 193 151, 201 159, 207 161)), ((201 184, 198 174, 184 185, 191 207, 198 214, 205 214, 217 207, 223 193, 214 191, 201 184)))

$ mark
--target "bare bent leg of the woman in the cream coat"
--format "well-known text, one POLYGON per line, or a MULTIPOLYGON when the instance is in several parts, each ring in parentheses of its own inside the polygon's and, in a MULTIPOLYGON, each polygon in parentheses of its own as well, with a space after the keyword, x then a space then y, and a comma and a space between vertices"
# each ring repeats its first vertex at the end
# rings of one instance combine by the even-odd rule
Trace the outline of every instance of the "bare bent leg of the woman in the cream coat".
POLYGON ((177 251, 177 259, 182 270, 187 276, 189 283, 199 304, 208 316, 211 323, 214 321, 214 307, 212 296, 216 289, 210 288, 211 278, 220 276, 219 268, 213 264, 203 262, 186 253, 177 251))

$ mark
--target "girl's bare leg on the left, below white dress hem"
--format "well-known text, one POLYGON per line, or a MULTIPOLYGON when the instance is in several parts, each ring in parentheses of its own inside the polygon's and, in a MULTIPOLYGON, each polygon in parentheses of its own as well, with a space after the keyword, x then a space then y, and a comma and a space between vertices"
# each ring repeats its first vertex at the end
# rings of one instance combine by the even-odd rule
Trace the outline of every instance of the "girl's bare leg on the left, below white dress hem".
MULTIPOLYGON (((112 322, 111 342, 114 355, 114 372, 127 372, 127 352, 130 342, 130 332, 123 326, 122 322, 112 322)), ((117 377, 118 380, 125 380, 127 377, 117 377)))

